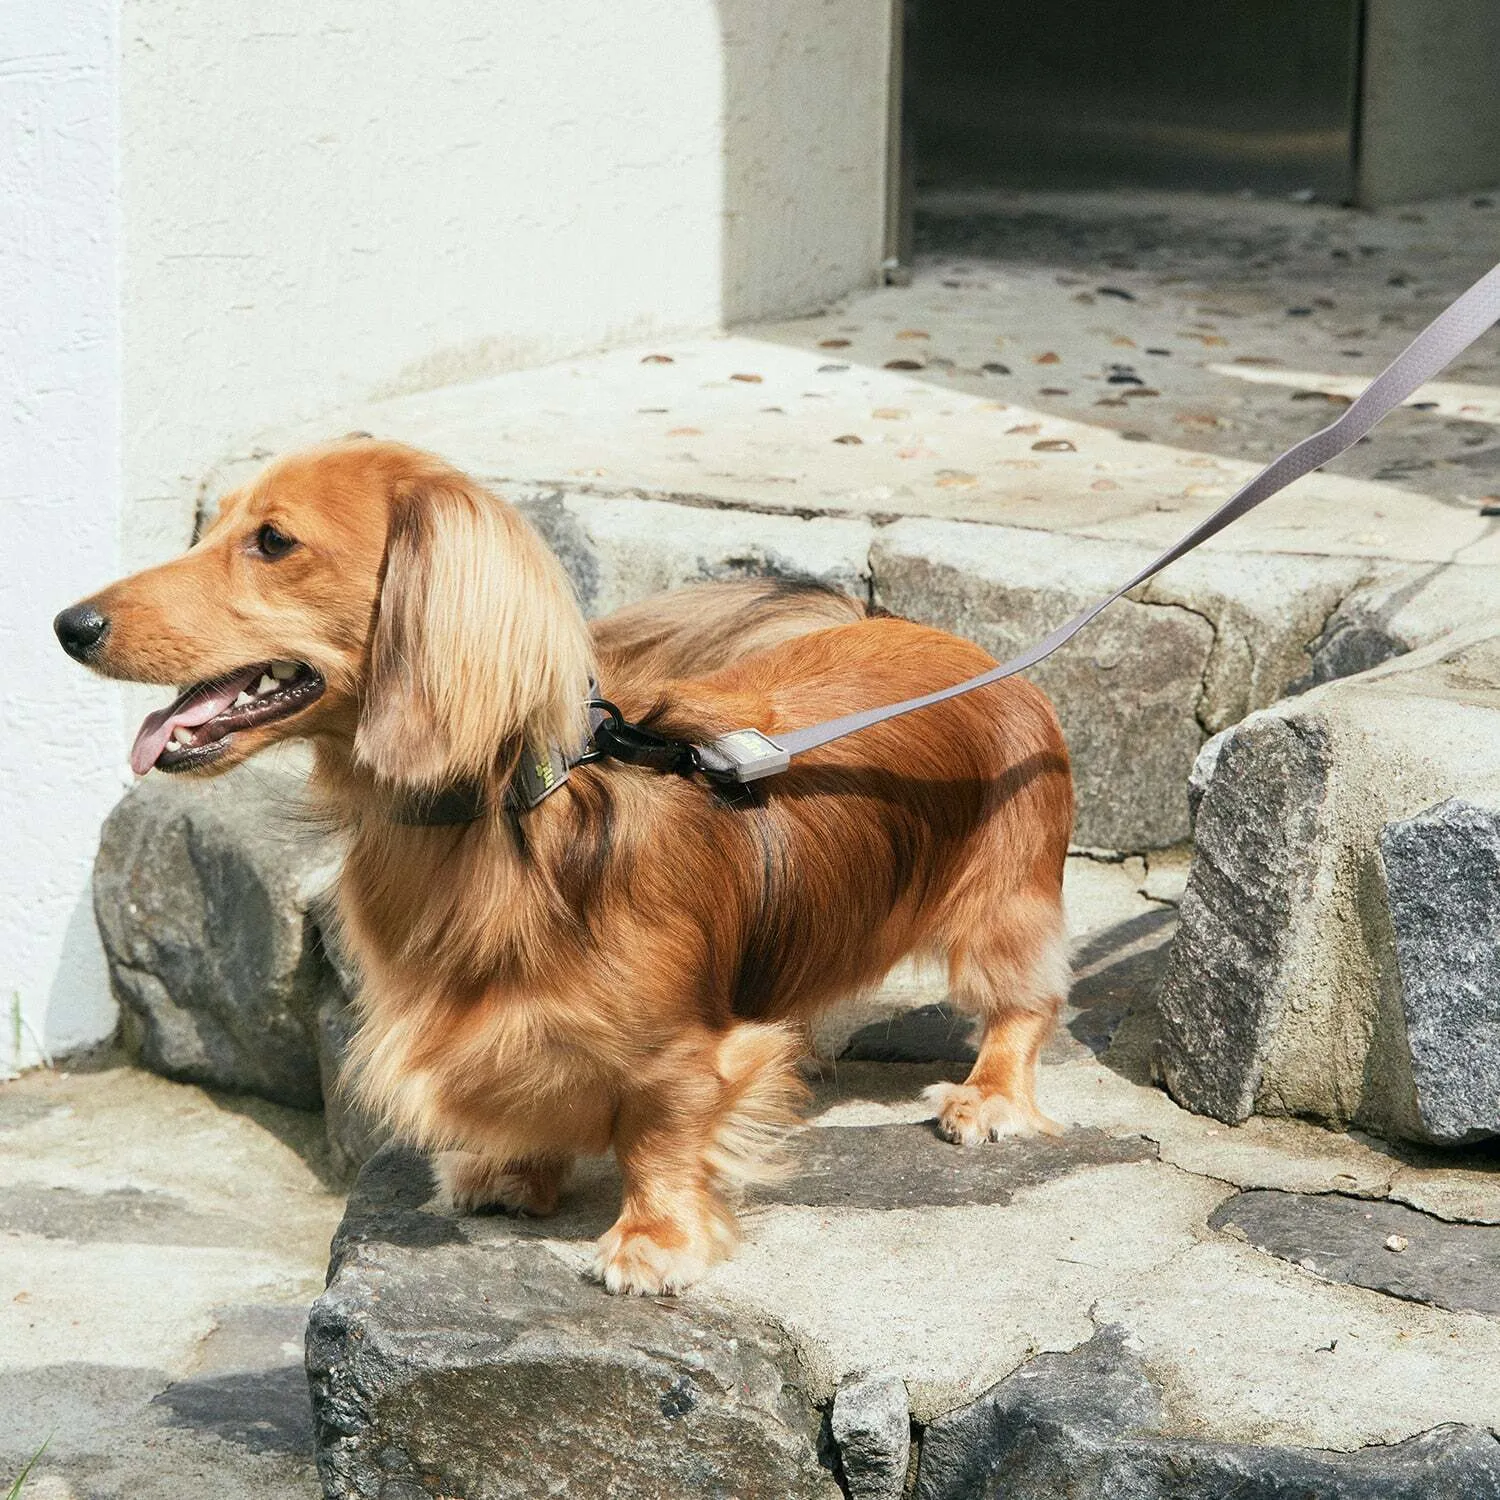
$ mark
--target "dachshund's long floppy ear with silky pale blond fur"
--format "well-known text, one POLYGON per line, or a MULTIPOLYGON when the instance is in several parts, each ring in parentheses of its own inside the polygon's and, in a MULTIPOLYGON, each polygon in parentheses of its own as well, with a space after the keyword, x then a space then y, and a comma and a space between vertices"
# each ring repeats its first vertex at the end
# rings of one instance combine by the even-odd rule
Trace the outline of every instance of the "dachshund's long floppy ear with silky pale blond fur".
POLYGON ((440 788, 572 748, 591 666, 567 574, 512 506, 456 471, 396 483, 357 759, 440 788))

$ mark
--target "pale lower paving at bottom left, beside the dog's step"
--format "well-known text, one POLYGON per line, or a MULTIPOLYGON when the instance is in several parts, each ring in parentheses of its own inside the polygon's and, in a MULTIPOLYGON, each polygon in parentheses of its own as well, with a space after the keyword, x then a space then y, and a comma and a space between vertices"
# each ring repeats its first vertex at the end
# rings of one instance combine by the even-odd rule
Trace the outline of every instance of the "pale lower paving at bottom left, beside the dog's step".
POLYGON ((130 1068, 0 1086, 0 1480, 309 1500, 302 1328, 342 1200, 321 1120, 130 1068))

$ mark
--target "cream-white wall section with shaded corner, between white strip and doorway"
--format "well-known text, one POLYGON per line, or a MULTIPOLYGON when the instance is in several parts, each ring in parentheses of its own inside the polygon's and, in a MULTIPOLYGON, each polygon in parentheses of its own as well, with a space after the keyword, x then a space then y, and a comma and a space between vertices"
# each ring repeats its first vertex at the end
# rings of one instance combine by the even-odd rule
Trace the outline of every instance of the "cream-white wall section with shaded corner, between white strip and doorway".
POLYGON ((890 12, 124 0, 129 560, 270 424, 873 279, 890 12))

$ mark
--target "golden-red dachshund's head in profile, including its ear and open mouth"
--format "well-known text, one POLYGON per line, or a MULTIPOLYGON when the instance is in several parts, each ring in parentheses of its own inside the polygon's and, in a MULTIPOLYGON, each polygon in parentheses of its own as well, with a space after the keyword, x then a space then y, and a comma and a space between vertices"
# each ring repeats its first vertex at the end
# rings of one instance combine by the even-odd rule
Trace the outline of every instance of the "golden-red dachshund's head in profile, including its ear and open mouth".
POLYGON ((180 687, 135 738, 142 776, 308 736, 430 789, 582 732, 588 633, 556 558, 513 507, 390 442, 284 459, 183 556, 54 628, 106 676, 180 687))

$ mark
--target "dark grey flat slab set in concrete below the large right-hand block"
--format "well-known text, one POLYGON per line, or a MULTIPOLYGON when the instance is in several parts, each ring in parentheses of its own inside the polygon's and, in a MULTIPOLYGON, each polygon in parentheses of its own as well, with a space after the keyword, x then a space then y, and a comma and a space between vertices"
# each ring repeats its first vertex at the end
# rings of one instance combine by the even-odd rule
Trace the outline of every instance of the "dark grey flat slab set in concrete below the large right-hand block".
POLYGON ((1256 1250, 1407 1302, 1500 1317, 1500 1228, 1444 1224, 1400 1203, 1242 1192, 1209 1220, 1256 1250), (1392 1244, 1394 1242, 1394 1244, 1392 1244))

